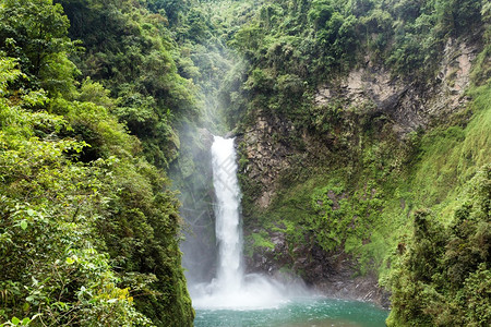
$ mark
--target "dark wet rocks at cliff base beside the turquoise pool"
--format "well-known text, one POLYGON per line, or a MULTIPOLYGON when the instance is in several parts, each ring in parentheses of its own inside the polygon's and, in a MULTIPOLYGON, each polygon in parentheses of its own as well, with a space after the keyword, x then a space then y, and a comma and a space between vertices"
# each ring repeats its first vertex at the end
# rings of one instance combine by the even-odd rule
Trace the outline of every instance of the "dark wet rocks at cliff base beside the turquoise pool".
POLYGON ((274 249, 260 247, 252 257, 247 257, 249 271, 261 271, 283 282, 294 282, 292 276, 299 275, 315 292, 388 307, 390 294, 379 286, 378 277, 358 275, 358 263, 346 253, 326 252, 309 239, 303 245, 289 249, 280 232, 272 232, 270 240, 274 249))

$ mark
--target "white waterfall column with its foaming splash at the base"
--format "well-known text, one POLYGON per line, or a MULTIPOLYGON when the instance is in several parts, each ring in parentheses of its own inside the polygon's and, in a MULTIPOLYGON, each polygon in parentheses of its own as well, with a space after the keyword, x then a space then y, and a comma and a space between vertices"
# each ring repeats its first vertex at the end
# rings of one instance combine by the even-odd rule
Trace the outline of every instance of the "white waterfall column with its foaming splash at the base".
POLYGON ((250 310, 275 307, 288 300, 286 288, 261 275, 244 275, 240 226, 240 189, 233 138, 215 136, 212 146, 216 195, 217 276, 190 288, 196 308, 250 310))

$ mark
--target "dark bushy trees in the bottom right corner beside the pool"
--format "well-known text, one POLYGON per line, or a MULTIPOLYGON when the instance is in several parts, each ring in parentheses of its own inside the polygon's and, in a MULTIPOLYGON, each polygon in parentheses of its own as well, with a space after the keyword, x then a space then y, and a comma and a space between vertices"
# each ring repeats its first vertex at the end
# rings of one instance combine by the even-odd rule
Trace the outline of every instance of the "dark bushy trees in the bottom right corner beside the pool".
POLYGON ((415 214, 414 235, 391 275, 390 326, 491 323, 490 173, 486 166, 467 183, 466 196, 447 228, 428 213, 415 214))

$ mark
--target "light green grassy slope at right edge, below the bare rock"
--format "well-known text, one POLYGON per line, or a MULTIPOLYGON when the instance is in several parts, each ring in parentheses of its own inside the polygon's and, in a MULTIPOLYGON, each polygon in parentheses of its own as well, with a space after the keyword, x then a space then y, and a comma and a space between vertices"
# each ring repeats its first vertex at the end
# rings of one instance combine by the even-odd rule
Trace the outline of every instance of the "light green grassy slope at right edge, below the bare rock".
POLYGON ((420 190, 418 196, 427 206, 450 199, 450 194, 470 179, 478 167, 491 156, 490 142, 490 86, 474 89, 471 109, 474 119, 463 129, 459 125, 442 126, 421 140, 420 161, 412 185, 420 190), (428 180, 433 181, 428 183, 428 180))

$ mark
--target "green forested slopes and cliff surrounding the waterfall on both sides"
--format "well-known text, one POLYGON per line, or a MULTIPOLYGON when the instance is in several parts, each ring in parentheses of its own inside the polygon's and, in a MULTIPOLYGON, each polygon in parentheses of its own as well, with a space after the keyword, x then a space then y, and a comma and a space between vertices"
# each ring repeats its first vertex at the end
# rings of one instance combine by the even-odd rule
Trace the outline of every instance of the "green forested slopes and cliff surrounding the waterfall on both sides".
POLYGON ((192 326, 203 204, 175 190, 206 184, 204 129, 236 136, 251 267, 315 286, 343 258, 388 326, 488 326, 490 24, 486 0, 0 0, 0 326, 192 326))

